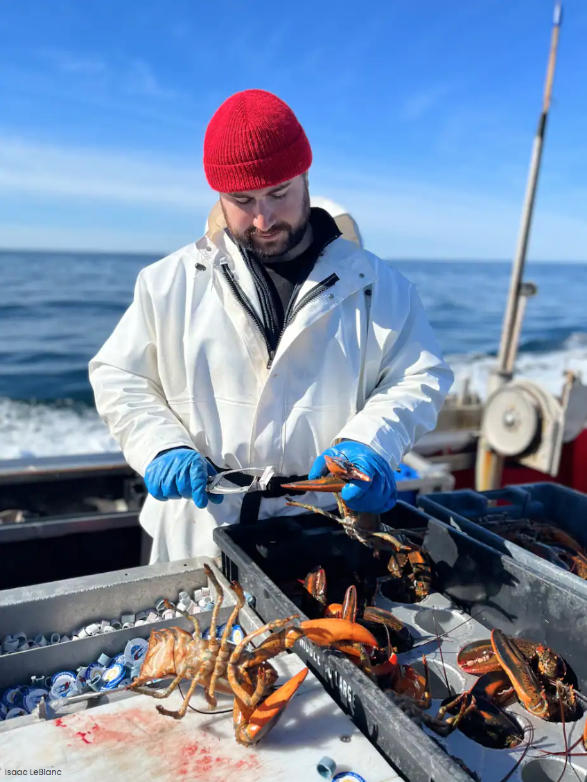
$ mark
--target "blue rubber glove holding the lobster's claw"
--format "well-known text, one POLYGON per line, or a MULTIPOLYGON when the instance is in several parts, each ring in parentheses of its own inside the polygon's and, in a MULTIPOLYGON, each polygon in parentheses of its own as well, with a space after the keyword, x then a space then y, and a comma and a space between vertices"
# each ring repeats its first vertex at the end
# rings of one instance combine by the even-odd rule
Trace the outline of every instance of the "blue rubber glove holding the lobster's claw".
POLYGON ((333 448, 327 448, 320 454, 308 473, 308 479, 315 480, 322 475, 328 475, 324 455, 344 457, 356 468, 369 475, 370 482, 352 480, 344 486, 340 497, 351 511, 358 513, 385 513, 391 511, 398 501, 395 488, 395 474, 391 465, 373 448, 355 440, 343 440, 333 448))

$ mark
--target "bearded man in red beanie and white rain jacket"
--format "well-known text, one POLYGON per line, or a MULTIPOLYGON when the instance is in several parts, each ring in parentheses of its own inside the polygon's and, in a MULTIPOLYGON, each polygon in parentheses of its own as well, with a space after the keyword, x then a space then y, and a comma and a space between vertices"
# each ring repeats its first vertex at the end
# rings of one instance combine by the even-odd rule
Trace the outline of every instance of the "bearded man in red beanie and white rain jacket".
POLYGON ((283 101, 227 99, 203 146, 221 210, 202 239, 142 269, 90 361, 99 414, 149 491, 151 562, 216 556, 215 526, 301 512, 279 486, 326 474, 333 446, 372 479, 345 486, 349 508, 387 511, 394 468, 436 425, 453 375, 420 298, 311 207, 311 163, 283 101), (269 465, 265 493, 207 492, 220 468, 269 465))

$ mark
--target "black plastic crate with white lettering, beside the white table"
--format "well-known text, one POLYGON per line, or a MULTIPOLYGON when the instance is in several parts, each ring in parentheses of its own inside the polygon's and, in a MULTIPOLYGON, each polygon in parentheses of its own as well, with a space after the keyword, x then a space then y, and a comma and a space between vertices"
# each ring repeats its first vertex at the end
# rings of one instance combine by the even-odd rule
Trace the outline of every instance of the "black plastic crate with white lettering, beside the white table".
MULTIPOLYGON (((425 530, 434 590, 488 630, 499 627, 509 636, 556 649, 585 691, 587 600, 401 501, 386 521, 396 529, 425 530)), ((294 613, 308 618, 275 582, 303 578, 318 561, 327 571, 338 567, 375 576, 385 572, 384 560, 374 560, 373 552, 351 540, 340 526, 312 514, 218 528, 214 539, 222 551, 225 576, 239 579, 254 594, 255 610, 265 621, 294 613)), ((295 651, 410 782, 470 782, 466 771, 348 659, 308 639, 299 641, 295 651)))

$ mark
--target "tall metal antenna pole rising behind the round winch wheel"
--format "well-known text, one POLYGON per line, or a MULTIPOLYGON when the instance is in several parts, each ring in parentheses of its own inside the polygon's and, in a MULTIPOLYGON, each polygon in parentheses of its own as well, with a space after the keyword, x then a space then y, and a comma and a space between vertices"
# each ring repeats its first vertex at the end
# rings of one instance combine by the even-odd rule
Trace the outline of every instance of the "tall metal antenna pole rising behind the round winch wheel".
MULTIPOLYGON (((560 2, 557 2, 554 9, 553 32, 550 38, 550 53, 548 69, 546 70, 542 112, 540 113, 538 130, 536 131, 534 145, 532 147, 524 209, 522 210, 520 232, 510 279, 510 294, 508 297, 506 314, 503 320, 497 367, 492 371, 492 375, 489 378, 488 393, 493 393, 500 387, 505 386, 506 383, 510 382, 513 378, 513 366, 516 361, 522 318, 524 317, 524 303, 528 296, 528 291, 524 289, 524 284, 522 283, 522 275, 524 274, 524 264, 526 263, 528 238, 534 210, 536 187, 538 185, 538 171, 540 170, 540 161, 542 159, 542 144, 546 132, 546 120, 548 119, 550 98, 553 91, 554 66, 556 63, 556 50, 558 48, 562 16, 562 5, 560 2), (524 303, 520 303, 520 300, 524 300, 524 303)), ((477 446, 477 491, 499 489, 502 480, 503 462, 503 457, 492 450, 484 437, 480 437, 477 446)))

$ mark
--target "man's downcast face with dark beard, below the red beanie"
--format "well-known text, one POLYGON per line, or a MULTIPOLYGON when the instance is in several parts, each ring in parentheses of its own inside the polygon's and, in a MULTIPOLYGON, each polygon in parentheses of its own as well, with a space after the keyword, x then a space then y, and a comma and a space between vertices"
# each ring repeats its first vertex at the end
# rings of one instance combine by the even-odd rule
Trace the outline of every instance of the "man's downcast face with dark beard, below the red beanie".
POLYGON ((226 224, 236 242, 260 257, 282 255, 304 237, 310 217, 305 174, 272 188, 221 193, 226 224))

